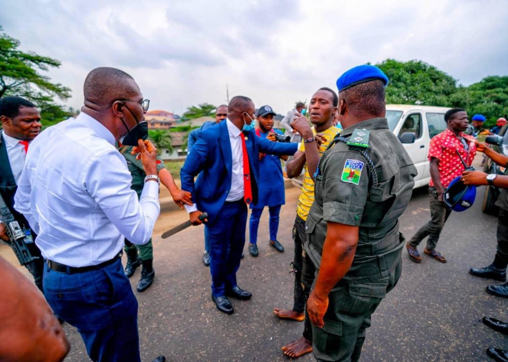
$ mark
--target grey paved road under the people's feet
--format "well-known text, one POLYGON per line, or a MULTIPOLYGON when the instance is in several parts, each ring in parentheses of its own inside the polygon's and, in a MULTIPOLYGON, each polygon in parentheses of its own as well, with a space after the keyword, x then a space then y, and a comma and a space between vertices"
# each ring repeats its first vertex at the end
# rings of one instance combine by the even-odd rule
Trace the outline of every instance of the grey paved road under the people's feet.
MULTIPOLYGON (((490 280, 467 272, 491 262, 495 251, 496 218, 481 212, 477 203, 466 212, 453 213, 444 228, 438 250, 448 258, 441 264, 426 255, 411 262, 403 251, 403 273, 372 318, 361 360, 365 361, 484 361, 489 346, 508 348, 505 337, 482 324, 484 315, 508 320, 508 300, 487 294, 490 280)), ((281 321, 273 307, 289 308, 293 277, 291 229, 299 190, 287 190, 282 207, 278 253, 267 244, 268 218, 260 226, 260 256, 247 253, 238 272, 239 285, 253 293, 249 301, 233 300, 235 314, 215 310, 210 298, 209 270, 201 262, 202 229, 188 228, 171 238, 154 238, 156 279, 139 300, 139 331, 143 361, 165 354, 169 361, 283 361, 280 347, 301 336, 302 323, 281 321)), ((425 189, 414 192, 401 217, 406 236, 429 218, 425 189)), ((185 219, 168 212, 169 224, 185 219)), ((161 227, 160 227, 161 228, 161 227)), ((423 250, 423 245, 420 247, 423 250)), ((125 261, 124 261, 125 262, 125 261)), ((139 270, 132 285, 139 279, 139 270)), ((76 330, 65 330, 72 344, 66 361, 87 361, 76 330)), ((314 360, 311 355, 301 361, 314 360)))

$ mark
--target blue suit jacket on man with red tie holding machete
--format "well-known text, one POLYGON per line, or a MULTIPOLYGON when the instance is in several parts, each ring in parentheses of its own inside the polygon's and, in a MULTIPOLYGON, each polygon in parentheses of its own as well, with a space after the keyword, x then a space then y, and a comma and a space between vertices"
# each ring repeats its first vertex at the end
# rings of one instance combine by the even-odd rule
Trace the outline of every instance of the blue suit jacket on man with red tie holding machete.
MULTIPOLYGON (((298 143, 279 143, 261 137, 252 131, 244 132, 247 140, 245 146, 249 155, 252 184, 252 202, 258 201, 259 153, 273 155, 293 155, 298 143)), ((197 142, 192 148, 180 170, 182 190, 193 196, 198 209, 208 213, 210 223, 217 217, 226 202, 231 189, 231 169, 233 160, 228 125, 221 122, 199 133, 197 142), (198 175, 196 183, 194 177, 198 175)))

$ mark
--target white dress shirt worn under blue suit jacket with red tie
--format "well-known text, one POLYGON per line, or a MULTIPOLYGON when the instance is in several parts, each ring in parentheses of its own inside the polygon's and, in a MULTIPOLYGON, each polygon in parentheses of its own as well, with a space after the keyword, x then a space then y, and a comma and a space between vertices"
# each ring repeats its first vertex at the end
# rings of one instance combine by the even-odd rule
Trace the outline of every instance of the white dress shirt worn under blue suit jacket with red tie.
MULTIPOLYGON (((229 142, 231 144, 231 188, 228 192, 226 201, 238 201, 243 198, 243 149, 240 134, 242 131, 236 127, 229 118, 226 118, 228 126, 229 142)), ((243 134, 242 134, 243 137, 243 134)), ((192 213, 198 209, 196 203, 194 205, 183 205, 188 213, 192 213)))

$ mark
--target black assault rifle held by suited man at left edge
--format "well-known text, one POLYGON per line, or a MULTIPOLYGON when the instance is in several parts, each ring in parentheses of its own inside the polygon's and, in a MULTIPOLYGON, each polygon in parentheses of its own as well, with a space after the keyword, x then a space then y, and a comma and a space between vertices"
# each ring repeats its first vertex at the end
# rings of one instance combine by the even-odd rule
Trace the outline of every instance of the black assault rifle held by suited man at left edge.
POLYGON ((34 257, 30 254, 27 244, 34 243, 31 236, 30 229, 22 228, 19 223, 14 219, 9 207, 7 207, 4 198, 0 195, 0 213, 2 214, 1 221, 5 226, 9 241, 2 240, 5 244, 9 245, 21 265, 26 266, 30 274, 34 274, 34 266, 32 262, 39 257, 34 257))

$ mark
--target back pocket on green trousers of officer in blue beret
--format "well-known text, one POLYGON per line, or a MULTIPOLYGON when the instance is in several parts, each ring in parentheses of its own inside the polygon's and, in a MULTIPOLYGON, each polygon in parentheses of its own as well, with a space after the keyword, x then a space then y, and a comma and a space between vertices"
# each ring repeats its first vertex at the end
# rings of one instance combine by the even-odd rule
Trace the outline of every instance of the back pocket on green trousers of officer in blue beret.
POLYGON ((383 282, 350 284, 339 310, 351 315, 371 313, 371 309, 386 296, 386 287, 387 283, 383 282))

